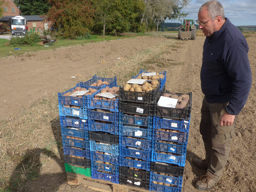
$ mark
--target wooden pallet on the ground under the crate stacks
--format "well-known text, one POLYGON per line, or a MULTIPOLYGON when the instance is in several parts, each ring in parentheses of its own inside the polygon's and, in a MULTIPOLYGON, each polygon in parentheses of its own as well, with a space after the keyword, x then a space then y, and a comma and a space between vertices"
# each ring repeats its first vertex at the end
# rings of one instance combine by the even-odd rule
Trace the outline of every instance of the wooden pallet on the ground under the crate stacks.
POLYGON ((110 181, 92 179, 81 174, 67 172, 67 180, 69 185, 80 185, 91 188, 100 192, 149 192, 146 189, 137 188, 128 185, 120 185, 110 181))

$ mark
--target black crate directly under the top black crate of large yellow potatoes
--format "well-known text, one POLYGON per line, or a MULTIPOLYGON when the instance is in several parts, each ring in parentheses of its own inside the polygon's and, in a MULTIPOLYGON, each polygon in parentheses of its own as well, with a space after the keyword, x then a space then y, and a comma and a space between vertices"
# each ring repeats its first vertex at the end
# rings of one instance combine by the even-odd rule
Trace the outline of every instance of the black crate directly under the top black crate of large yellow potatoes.
POLYGON ((123 113, 132 113, 137 115, 154 115, 154 103, 133 103, 128 101, 119 101, 119 110, 123 113))

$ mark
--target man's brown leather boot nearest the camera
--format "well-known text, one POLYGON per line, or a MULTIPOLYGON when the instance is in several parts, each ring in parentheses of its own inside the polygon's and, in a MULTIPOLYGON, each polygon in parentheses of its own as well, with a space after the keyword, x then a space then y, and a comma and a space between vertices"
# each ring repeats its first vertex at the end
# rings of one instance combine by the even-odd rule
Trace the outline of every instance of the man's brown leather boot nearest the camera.
POLYGON ((207 172, 206 175, 201 176, 200 180, 196 182, 196 188, 200 190, 208 190, 212 188, 218 179, 214 177, 214 175, 210 172, 207 172))

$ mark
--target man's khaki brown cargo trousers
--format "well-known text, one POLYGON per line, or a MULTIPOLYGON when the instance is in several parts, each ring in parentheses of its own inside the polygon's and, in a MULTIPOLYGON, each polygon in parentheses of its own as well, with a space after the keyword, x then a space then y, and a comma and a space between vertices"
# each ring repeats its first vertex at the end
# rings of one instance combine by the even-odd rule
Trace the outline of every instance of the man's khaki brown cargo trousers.
POLYGON ((216 179, 222 176, 230 149, 230 142, 234 135, 235 121, 230 126, 220 126, 220 118, 223 115, 226 103, 209 103, 205 96, 201 108, 200 134, 205 148, 205 162, 208 164, 208 172, 214 174, 216 179))

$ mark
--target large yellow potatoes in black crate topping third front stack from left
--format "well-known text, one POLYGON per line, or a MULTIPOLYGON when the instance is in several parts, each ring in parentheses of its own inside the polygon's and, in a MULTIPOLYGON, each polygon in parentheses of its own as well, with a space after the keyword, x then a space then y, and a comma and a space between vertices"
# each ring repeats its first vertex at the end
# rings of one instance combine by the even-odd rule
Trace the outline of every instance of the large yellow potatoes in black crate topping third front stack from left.
POLYGON ((159 81, 154 79, 150 83, 145 81, 142 85, 138 84, 124 84, 124 91, 135 91, 135 92, 149 92, 156 89, 159 81))

